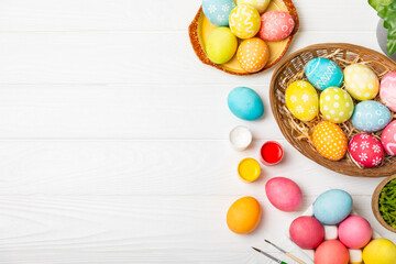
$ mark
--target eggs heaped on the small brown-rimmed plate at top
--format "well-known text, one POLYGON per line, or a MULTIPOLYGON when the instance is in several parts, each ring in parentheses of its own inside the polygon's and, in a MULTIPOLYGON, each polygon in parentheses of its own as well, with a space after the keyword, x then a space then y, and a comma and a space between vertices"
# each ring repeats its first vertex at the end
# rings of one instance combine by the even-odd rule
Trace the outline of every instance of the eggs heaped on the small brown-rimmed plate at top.
POLYGON ((245 72, 263 69, 270 58, 265 42, 285 40, 295 26, 287 12, 264 12, 270 0, 237 0, 237 3, 234 0, 204 0, 204 14, 217 26, 206 43, 209 59, 224 64, 237 54, 245 72), (239 46, 238 38, 242 41, 239 46))

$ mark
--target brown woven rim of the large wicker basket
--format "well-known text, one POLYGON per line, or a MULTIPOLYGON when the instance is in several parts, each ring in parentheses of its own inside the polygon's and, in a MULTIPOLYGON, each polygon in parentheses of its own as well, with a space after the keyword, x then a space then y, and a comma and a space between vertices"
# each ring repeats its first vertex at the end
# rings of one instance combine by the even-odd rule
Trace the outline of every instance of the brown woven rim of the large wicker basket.
MULTIPOLYGON (((314 44, 314 45, 309 45, 307 47, 304 47, 301 50, 298 50, 292 54, 289 54, 288 56, 286 56, 285 58, 282 59, 282 62, 276 66, 272 79, 271 79, 271 84, 270 84, 270 102, 271 102, 271 109, 273 112, 273 116, 276 120, 276 123, 280 130, 280 132, 283 133, 283 135, 285 136, 285 139, 298 151, 300 152, 302 155, 305 155, 306 157, 308 157, 309 160, 314 161, 315 163, 331 169, 336 173, 340 173, 343 175, 349 175, 349 176, 355 176, 355 177, 387 177, 391 175, 396 174, 396 166, 394 172, 384 172, 384 169, 381 169, 382 167, 378 168, 359 168, 358 166, 355 167, 355 169, 351 169, 351 168, 342 168, 337 166, 336 164, 332 164, 332 166, 330 166, 329 164, 322 162, 321 160, 323 158, 319 153, 316 153, 315 155, 310 155, 309 153, 307 153, 304 148, 299 148, 297 147, 297 145, 295 144, 295 142, 293 142, 292 140, 292 132, 288 132, 285 130, 285 125, 282 122, 282 114, 278 111, 278 106, 276 103, 276 90, 277 90, 277 79, 278 76, 283 73, 283 70, 285 68, 287 68, 288 63, 300 56, 301 54, 311 52, 311 51, 319 51, 319 50, 342 50, 342 51, 351 51, 353 53, 356 54, 366 54, 366 55, 371 55, 371 56, 375 56, 384 62, 386 62, 387 65, 392 65, 392 70, 396 70, 396 62, 392 61, 391 58, 388 58, 387 56, 373 51, 371 48, 366 48, 363 46, 359 46, 359 45, 354 45, 354 44, 350 44, 350 43, 319 43, 319 44, 314 44)), ((337 163, 337 162, 334 162, 337 163)), ((392 166, 392 165, 391 165, 392 166)))

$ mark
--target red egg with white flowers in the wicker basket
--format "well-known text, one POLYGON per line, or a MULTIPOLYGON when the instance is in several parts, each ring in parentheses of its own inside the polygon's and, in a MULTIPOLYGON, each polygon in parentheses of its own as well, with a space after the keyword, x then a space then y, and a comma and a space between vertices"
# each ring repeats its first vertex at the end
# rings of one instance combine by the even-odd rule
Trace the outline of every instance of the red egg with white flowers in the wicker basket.
POLYGON ((384 160, 381 142, 371 134, 358 134, 349 144, 351 157, 362 167, 376 167, 384 160))

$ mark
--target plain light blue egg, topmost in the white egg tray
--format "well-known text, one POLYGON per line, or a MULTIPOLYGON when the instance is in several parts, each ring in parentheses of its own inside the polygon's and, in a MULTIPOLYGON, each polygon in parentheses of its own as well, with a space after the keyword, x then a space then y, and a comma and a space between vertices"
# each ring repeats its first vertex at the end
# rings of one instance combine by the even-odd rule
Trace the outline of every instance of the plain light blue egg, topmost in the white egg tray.
POLYGON ((344 190, 324 191, 314 202, 314 216, 323 224, 338 224, 352 211, 352 197, 344 190))

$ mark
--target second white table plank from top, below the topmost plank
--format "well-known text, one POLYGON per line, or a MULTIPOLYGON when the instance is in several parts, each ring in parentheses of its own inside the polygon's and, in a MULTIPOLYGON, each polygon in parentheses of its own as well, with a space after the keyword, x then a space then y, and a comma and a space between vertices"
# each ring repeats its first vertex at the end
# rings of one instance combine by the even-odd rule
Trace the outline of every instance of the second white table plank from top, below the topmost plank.
MULTIPOLYGON (((375 32, 299 32, 289 52, 322 42, 380 50, 375 32)), ((0 34, 0 85, 262 85, 273 69, 230 76, 196 57, 185 32, 36 32, 0 34), (160 46, 158 46, 160 45, 160 46)))

